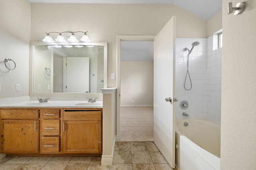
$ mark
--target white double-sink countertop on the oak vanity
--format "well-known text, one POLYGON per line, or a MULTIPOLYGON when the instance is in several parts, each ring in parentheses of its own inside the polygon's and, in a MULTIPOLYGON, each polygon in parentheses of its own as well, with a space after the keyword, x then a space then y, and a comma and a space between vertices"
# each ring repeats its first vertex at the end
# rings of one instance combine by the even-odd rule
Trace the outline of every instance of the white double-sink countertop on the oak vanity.
POLYGON ((12 104, 3 104, 0 107, 98 107, 102 108, 102 101, 88 102, 88 101, 28 101, 12 104))

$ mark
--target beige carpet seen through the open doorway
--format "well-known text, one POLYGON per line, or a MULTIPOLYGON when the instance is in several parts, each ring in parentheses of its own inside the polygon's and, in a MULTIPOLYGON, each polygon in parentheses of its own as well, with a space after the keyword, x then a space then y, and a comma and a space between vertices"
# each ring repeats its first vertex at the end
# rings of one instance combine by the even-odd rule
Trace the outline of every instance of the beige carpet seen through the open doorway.
POLYGON ((153 141, 153 106, 121 106, 120 141, 153 141))

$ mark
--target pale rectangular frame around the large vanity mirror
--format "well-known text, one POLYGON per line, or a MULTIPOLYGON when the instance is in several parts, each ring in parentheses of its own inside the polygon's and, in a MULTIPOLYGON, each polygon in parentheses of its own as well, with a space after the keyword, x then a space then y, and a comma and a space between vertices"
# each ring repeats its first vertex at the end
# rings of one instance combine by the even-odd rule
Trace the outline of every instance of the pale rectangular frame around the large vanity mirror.
POLYGON ((104 88, 108 86, 108 42, 96 43, 44 43, 43 41, 30 41, 29 59, 29 96, 48 96, 48 97, 78 97, 78 96, 98 96, 102 93, 34 93, 34 45, 101 45, 104 46, 104 88))

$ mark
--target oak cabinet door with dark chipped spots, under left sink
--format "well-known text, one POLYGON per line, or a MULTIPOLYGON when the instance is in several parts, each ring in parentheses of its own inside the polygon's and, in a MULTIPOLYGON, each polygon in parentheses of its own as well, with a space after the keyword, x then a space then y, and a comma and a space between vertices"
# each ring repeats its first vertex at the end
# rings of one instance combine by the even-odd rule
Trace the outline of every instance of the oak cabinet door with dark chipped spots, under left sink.
POLYGON ((3 153, 38 153, 38 120, 3 120, 3 153))

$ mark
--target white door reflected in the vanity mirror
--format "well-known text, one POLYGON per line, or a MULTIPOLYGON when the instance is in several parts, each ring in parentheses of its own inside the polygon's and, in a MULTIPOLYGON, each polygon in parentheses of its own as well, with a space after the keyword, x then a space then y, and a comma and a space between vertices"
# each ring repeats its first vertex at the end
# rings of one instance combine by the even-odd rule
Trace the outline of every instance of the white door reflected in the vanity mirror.
POLYGON ((89 92, 89 57, 67 57, 66 92, 89 92))

